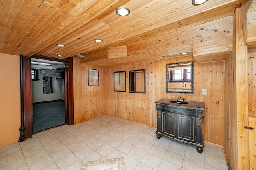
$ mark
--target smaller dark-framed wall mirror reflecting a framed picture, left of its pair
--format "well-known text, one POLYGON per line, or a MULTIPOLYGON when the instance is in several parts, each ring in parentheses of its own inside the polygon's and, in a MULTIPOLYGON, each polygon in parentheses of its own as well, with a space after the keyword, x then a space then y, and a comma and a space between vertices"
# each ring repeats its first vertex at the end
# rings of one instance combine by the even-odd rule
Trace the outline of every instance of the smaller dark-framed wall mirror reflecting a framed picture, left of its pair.
POLYGON ((114 91, 126 92, 126 71, 114 72, 114 91))

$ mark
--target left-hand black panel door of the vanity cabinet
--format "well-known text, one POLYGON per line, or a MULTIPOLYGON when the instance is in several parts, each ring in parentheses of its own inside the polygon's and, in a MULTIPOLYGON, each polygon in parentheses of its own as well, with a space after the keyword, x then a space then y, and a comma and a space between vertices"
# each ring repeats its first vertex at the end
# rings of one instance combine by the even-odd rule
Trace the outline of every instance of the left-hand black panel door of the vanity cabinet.
POLYGON ((162 132, 176 137, 176 114, 162 112, 162 132))

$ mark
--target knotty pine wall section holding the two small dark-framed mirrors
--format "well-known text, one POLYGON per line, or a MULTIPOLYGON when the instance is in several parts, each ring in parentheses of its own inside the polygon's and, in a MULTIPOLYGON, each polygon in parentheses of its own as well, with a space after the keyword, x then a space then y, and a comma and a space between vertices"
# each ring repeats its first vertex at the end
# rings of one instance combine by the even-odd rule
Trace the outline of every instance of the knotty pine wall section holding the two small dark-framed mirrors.
POLYGON ((106 114, 149 125, 149 63, 139 63, 107 68, 107 112, 106 114), (146 70, 146 93, 129 93, 129 71, 146 70), (126 92, 113 89, 114 72, 126 71, 126 92))

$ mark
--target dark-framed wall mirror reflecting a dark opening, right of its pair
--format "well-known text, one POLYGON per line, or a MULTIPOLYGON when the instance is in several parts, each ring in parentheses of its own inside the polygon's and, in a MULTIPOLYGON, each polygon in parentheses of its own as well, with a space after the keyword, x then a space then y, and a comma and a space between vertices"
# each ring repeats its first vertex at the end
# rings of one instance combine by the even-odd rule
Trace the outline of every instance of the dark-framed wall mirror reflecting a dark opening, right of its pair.
POLYGON ((130 93, 146 93, 145 90, 145 69, 129 71, 130 93))

